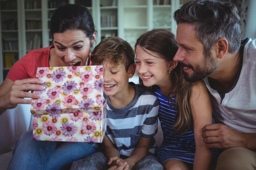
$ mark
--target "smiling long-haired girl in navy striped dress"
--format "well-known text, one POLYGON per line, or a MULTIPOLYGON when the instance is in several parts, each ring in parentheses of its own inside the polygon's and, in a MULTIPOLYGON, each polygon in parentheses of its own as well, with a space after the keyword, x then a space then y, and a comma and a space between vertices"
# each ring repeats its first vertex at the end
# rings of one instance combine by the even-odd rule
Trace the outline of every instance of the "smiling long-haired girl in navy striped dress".
POLYGON ((167 170, 208 170, 212 153, 202 128, 212 122, 212 107, 203 82, 189 83, 173 60, 178 45, 167 30, 148 31, 137 40, 136 71, 140 84, 159 98, 163 143, 157 157, 167 170))

